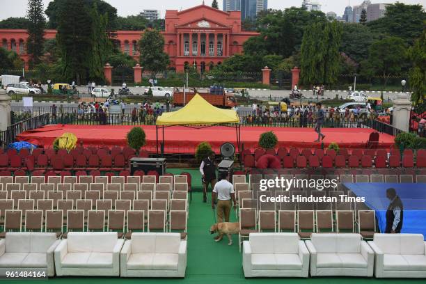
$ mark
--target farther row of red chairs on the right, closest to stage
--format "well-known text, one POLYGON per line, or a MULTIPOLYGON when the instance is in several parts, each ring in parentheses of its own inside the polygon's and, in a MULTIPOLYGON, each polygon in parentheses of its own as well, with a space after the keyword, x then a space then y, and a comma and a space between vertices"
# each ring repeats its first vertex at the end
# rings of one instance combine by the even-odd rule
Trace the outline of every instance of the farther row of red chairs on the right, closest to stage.
MULTIPOLYGON (((414 157, 414 152, 411 149, 405 149, 404 152, 402 152, 403 156, 411 156, 414 157)), ((324 155, 328 155, 331 157, 336 157, 337 155, 342 155, 346 159, 349 158, 350 155, 358 156, 359 159, 361 159, 363 156, 370 156, 370 157, 388 157, 388 151, 385 149, 347 149, 342 148, 339 150, 339 152, 336 152, 336 150, 333 149, 326 149, 325 152, 323 149, 303 149, 299 150, 298 148, 290 148, 290 150, 287 150, 287 148, 278 148, 278 150, 275 149, 268 149, 264 150, 262 148, 255 149, 254 153, 251 152, 250 149, 246 149, 242 152, 242 157, 246 155, 254 155, 255 161, 258 161, 260 157, 263 155, 276 155, 283 159, 285 156, 291 156, 294 159, 296 159, 298 156, 302 155, 306 157, 306 159, 309 159, 310 156, 315 155, 321 159, 324 155)), ((390 149, 390 155, 400 156, 400 150, 392 148, 390 149)), ((426 157, 426 149, 420 149, 417 151, 417 157, 426 157)))

